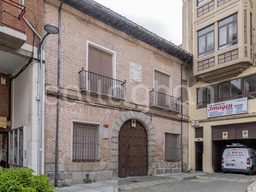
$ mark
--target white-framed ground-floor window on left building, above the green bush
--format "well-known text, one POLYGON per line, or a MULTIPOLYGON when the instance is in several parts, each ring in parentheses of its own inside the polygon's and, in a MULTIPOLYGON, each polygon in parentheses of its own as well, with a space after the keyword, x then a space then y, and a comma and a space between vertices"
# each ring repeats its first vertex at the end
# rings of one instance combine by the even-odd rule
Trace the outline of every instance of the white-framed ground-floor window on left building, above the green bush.
POLYGON ((24 129, 19 127, 9 132, 9 164, 23 165, 24 129))

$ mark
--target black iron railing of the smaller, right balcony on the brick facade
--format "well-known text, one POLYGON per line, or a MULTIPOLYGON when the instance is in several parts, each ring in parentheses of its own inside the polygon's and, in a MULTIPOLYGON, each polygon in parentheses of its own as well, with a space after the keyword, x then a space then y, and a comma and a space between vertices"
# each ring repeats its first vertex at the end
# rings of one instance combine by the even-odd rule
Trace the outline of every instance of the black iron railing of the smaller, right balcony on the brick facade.
POLYGON ((180 112, 180 98, 175 98, 158 91, 150 91, 150 107, 165 109, 167 111, 180 112))

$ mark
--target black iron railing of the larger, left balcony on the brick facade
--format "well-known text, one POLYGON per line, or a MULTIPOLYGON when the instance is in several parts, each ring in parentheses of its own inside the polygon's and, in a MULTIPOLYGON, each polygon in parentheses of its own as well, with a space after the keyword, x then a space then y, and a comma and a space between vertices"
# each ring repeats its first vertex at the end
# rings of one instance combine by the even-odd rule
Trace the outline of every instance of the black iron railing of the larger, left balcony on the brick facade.
POLYGON ((81 70, 79 76, 81 92, 116 99, 125 99, 126 97, 126 81, 115 80, 86 70, 81 70))

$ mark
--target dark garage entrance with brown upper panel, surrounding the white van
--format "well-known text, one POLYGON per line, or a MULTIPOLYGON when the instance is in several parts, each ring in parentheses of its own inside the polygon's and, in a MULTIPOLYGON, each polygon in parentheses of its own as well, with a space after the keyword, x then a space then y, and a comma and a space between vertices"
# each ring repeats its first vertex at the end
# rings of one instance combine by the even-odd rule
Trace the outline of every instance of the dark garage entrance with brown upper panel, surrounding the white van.
POLYGON ((213 170, 221 172, 222 153, 226 145, 234 143, 244 144, 249 148, 256 149, 256 122, 245 124, 231 124, 212 127, 213 139, 213 170))

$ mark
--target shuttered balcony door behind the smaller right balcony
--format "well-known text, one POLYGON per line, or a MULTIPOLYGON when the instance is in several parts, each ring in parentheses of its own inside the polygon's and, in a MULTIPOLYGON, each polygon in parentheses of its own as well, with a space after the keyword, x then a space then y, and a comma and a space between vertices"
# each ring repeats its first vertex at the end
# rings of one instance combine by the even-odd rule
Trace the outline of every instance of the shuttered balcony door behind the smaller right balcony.
POLYGON ((155 103, 158 107, 170 108, 170 76, 155 71, 155 103))

